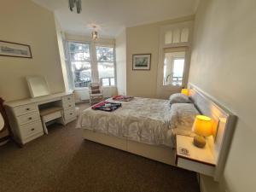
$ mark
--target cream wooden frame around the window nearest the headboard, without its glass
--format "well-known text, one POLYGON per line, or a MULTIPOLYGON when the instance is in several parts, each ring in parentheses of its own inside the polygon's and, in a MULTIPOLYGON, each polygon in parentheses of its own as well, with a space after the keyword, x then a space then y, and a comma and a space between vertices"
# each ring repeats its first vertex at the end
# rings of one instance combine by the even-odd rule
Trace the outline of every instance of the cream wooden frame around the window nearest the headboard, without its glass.
POLYGON ((190 47, 191 47, 192 35, 193 35, 192 33, 193 33, 193 21, 186 21, 183 23, 160 26, 159 65, 158 65, 158 74, 157 74, 157 96, 163 97, 163 95, 166 95, 166 94, 171 95, 170 93, 180 91, 188 83, 190 47), (166 32, 177 29, 177 28, 183 29, 185 27, 189 28, 188 42, 165 44, 166 32), (182 85, 172 85, 172 84, 164 85, 163 84, 165 49, 173 49, 174 52, 176 51, 175 49, 177 49, 177 51, 181 51, 182 49, 185 50, 185 63, 184 63, 184 69, 183 69, 182 85))

